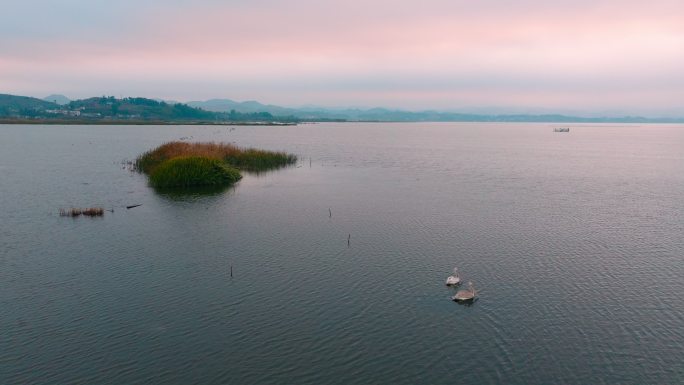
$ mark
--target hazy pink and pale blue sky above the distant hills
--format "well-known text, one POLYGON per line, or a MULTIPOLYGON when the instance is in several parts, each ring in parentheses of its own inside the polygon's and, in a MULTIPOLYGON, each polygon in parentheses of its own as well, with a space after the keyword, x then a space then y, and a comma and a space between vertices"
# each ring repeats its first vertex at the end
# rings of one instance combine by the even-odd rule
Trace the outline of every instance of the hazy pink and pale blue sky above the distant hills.
POLYGON ((682 0, 0 4, 0 93, 37 97, 684 116, 683 68, 682 0))

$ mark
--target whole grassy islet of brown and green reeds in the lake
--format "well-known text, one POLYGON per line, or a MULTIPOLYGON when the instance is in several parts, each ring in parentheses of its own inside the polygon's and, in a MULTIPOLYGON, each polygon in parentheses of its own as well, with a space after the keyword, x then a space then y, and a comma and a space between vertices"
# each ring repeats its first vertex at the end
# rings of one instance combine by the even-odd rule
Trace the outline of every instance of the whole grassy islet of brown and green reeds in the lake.
POLYGON ((240 180, 240 170, 266 171, 296 161, 292 154, 232 144, 169 142, 140 155, 135 168, 154 187, 223 186, 240 180))

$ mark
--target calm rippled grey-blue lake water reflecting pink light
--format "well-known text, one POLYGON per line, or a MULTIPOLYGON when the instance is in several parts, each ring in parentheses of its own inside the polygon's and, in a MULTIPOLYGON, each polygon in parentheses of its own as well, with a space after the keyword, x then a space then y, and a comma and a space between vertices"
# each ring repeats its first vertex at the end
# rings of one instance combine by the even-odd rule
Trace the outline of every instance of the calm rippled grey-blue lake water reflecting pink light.
POLYGON ((553 127, 0 126, 0 383, 684 383, 684 126, 553 127), (122 165, 180 138, 300 160, 122 165))

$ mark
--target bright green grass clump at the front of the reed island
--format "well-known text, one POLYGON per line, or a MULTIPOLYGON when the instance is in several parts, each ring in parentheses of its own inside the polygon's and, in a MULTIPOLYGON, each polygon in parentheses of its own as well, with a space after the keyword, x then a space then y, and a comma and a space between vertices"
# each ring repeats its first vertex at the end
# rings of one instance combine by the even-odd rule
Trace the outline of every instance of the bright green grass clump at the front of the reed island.
POLYGON ((160 188, 230 185, 242 178, 238 170, 220 160, 199 156, 169 159, 149 176, 150 184, 160 188))

